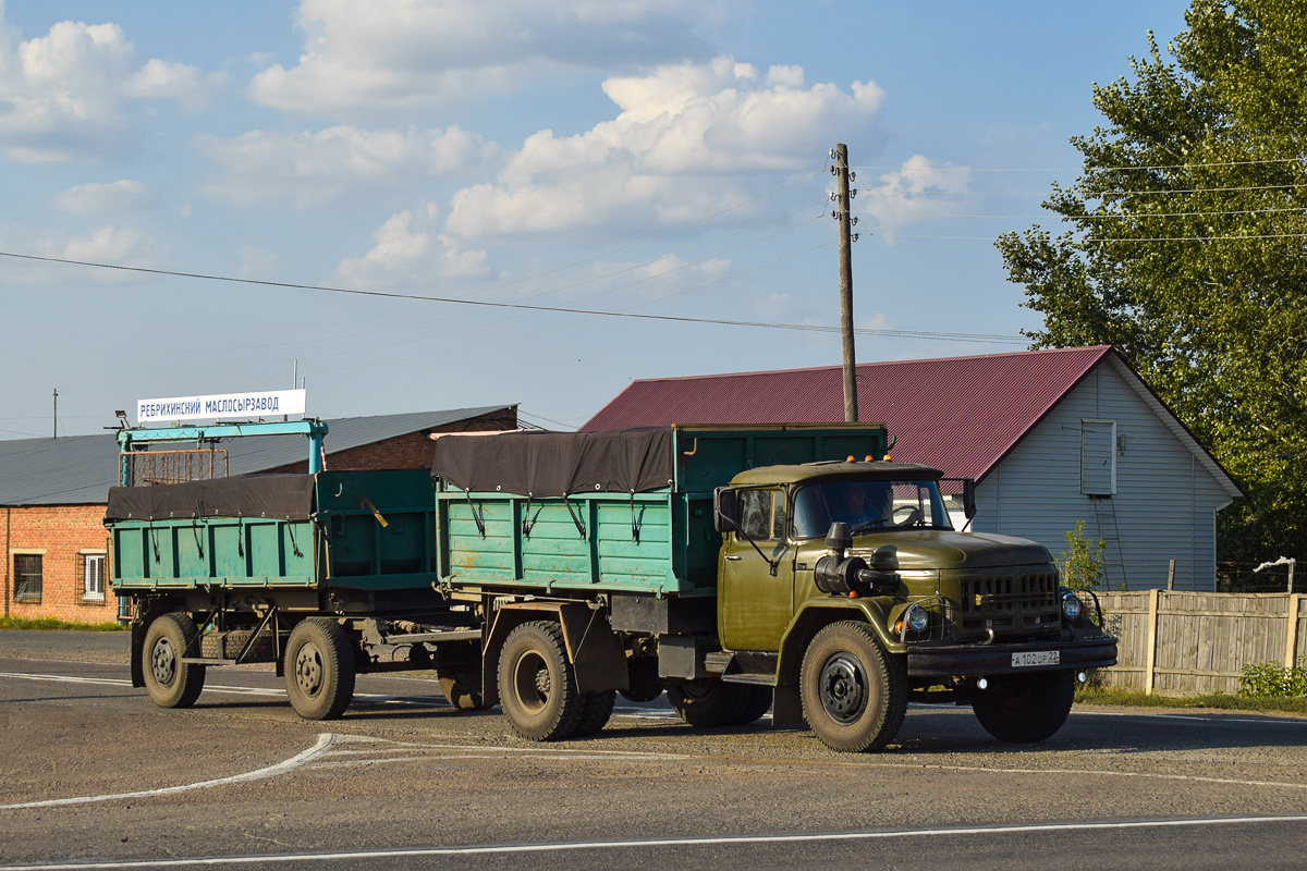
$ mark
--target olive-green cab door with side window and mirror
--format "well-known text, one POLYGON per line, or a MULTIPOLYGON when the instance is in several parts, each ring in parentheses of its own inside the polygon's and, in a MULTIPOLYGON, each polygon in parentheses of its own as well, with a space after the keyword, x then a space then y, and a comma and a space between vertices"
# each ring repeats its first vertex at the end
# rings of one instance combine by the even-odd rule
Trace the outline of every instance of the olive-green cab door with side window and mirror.
POLYGON ((776 650, 795 610, 795 548, 786 491, 741 490, 740 526, 758 548, 740 531, 731 533, 721 547, 718 635, 729 650, 776 650), (776 564, 775 576, 770 563, 776 564))

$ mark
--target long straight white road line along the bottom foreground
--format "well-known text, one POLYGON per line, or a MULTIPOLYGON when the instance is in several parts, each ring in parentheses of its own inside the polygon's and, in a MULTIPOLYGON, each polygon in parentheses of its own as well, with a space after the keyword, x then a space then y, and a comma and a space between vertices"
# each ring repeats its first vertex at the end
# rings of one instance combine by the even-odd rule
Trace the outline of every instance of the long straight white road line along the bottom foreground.
POLYGON ((1103 832, 1125 829, 1202 828, 1216 825, 1256 825, 1260 823, 1304 823, 1307 816, 1222 816, 1185 820, 1127 820, 1117 823, 1033 823, 1025 825, 976 825, 967 828, 894 829, 889 832, 818 832, 813 834, 721 834, 711 837, 643 838, 630 841, 562 841, 544 844, 503 844, 448 847, 399 847, 349 850, 340 853, 265 853, 261 855, 216 855, 170 859, 122 859, 4 864, 0 871, 74 871, 80 868, 175 868, 220 867, 290 862, 361 862, 366 859, 408 859, 418 857, 521 855, 531 853, 572 853, 580 850, 635 850, 670 846, 731 846, 741 844, 818 844, 831 841, 894 841, 920 837, 1002 836, 1048 832, 1103 832))

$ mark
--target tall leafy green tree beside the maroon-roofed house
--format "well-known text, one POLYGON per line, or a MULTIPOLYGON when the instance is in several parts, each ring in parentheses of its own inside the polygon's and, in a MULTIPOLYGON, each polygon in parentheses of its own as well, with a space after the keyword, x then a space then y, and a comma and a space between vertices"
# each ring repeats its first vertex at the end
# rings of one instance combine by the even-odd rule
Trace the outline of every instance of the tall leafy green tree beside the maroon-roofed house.
POLYGON ((1115 345, 1244 484, 1222 559, 1307 559, 1307 14, 1193 0, 1185 22, 1093 86, 1106 124, 1044 202, 1070 229, 997 244, 1035 347, 1115 345))

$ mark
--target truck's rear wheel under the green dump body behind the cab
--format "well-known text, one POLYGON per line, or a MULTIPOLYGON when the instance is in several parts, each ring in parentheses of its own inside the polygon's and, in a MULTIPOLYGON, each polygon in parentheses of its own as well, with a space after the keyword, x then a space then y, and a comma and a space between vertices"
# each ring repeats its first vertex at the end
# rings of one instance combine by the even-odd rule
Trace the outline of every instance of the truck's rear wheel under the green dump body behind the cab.
POLYGON ((499 704, 512 730, 529 740, 576 731, 586 699, 557 623, 532 620, 508 633, 499 653, 499 704))

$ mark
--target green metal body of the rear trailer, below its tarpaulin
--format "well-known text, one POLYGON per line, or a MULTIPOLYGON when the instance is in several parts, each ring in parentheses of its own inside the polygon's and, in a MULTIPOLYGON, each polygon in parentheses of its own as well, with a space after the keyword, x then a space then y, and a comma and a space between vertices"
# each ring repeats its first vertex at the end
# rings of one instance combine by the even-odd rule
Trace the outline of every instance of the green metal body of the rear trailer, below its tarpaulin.
MULTIPOLYGON (((302 517, 210 516, 197 505, 186 517, 107 518, 114 589, 431 589, 438 573, 427 471, 294 478, 311 487, 302 517)), ((247 481, 257 487, 260 479, 247 481)), ((112 508, 112 495, 110 501, 112 508)))

